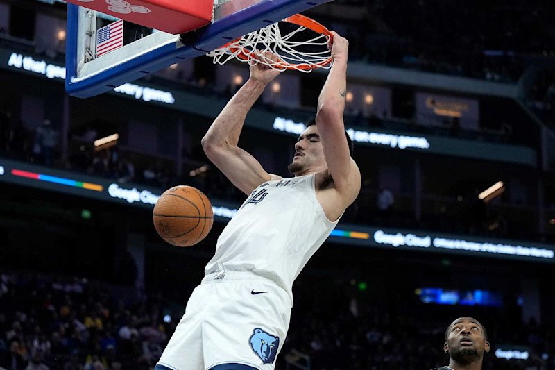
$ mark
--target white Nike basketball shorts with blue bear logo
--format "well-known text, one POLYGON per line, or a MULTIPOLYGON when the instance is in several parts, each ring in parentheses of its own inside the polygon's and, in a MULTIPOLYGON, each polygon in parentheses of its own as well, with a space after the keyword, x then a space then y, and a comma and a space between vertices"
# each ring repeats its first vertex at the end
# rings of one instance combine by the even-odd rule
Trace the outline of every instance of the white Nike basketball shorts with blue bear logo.
POLYGON ((273 370, 291 305, 289 294, 268 276, 207 275, 155 370, 273 370))

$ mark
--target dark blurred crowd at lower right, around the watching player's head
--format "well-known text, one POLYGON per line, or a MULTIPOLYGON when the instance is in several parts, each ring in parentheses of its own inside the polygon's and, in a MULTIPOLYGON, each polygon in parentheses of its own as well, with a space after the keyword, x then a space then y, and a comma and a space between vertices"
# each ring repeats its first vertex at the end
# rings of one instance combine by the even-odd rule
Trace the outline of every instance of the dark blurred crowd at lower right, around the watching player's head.
MULTIPOLYGON (((348 285, 343 282, 343 285, 348 285)), ((372 283, 370 283, 371 285, 372 283)), ((336 287, 336 289, 341 289, 336 287)), ((296 292, 291 330, 284 346, 287 357, 311 369, 420 370, 448 363, 443 353, 447 326, 457 317, 475 317, 486 326, 493 350, 486 354, 484 370, 555 369, 555 337, 531 320, 523 323, 518 309, 435 305, 418 301, 413 292, 389 292, 386 298, 371 292, 344 289, 329 296, 296 292), (412 294, 411 294, 412 293, 412 294), (511 328, 504 323, 511 322, 511 328), (495 357, 499 344, 529 346, 527 361, 495 357)), ((371 290, 371 287, 369 288, 371 290)))

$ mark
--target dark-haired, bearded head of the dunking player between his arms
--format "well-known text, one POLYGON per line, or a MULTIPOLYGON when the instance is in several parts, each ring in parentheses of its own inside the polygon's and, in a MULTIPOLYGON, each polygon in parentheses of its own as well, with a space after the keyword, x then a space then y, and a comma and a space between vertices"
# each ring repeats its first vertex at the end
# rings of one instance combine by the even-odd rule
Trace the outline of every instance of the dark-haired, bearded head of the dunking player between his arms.
MULTIPOLYGON (((352 155, 354 148, 347 131, 345 131, 345 137, 347 137, 349 152, 352 155)), ((300 134, 297 144, 295 144, 295 156, 288 169, 291 174, 298 176, 305 174, 307 171, 319 171, 325 167, 327 165, 318 127, 316 126, 316 119, 311 119, 305 124, 305 131, 300 134)))

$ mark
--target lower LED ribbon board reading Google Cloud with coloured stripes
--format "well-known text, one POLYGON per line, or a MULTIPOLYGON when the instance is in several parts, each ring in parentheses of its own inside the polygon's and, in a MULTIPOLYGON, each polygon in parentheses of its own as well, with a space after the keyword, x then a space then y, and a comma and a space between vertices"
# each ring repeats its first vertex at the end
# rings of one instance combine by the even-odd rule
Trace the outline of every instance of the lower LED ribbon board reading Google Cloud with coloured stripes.
MULTIPOLYGON (((106 178, 0 158, 0 184, 84 196, 131 207, 152 210, 162 189, 142 185, 114 183, 106 178)), ((237 213, 238 204, 210 199, 216 221, 227 222, 237 213)), ((376 228, 366 225, 339 224, 328 238, 330 242, 366 247, 495 257, 536 262, 555 262, 555 246, 469 235, 447 235, 416 230, 376 228)))

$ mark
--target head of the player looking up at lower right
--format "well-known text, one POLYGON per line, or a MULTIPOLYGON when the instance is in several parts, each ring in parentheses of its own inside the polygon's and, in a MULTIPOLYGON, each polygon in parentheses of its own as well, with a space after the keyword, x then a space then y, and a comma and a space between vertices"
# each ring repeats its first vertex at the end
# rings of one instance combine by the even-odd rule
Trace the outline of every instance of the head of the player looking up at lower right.
POLYGON ((481 362, 490 351, 486 328, 472 317, 459 317, 445 330, 443 351, 458 364, 481 362))

